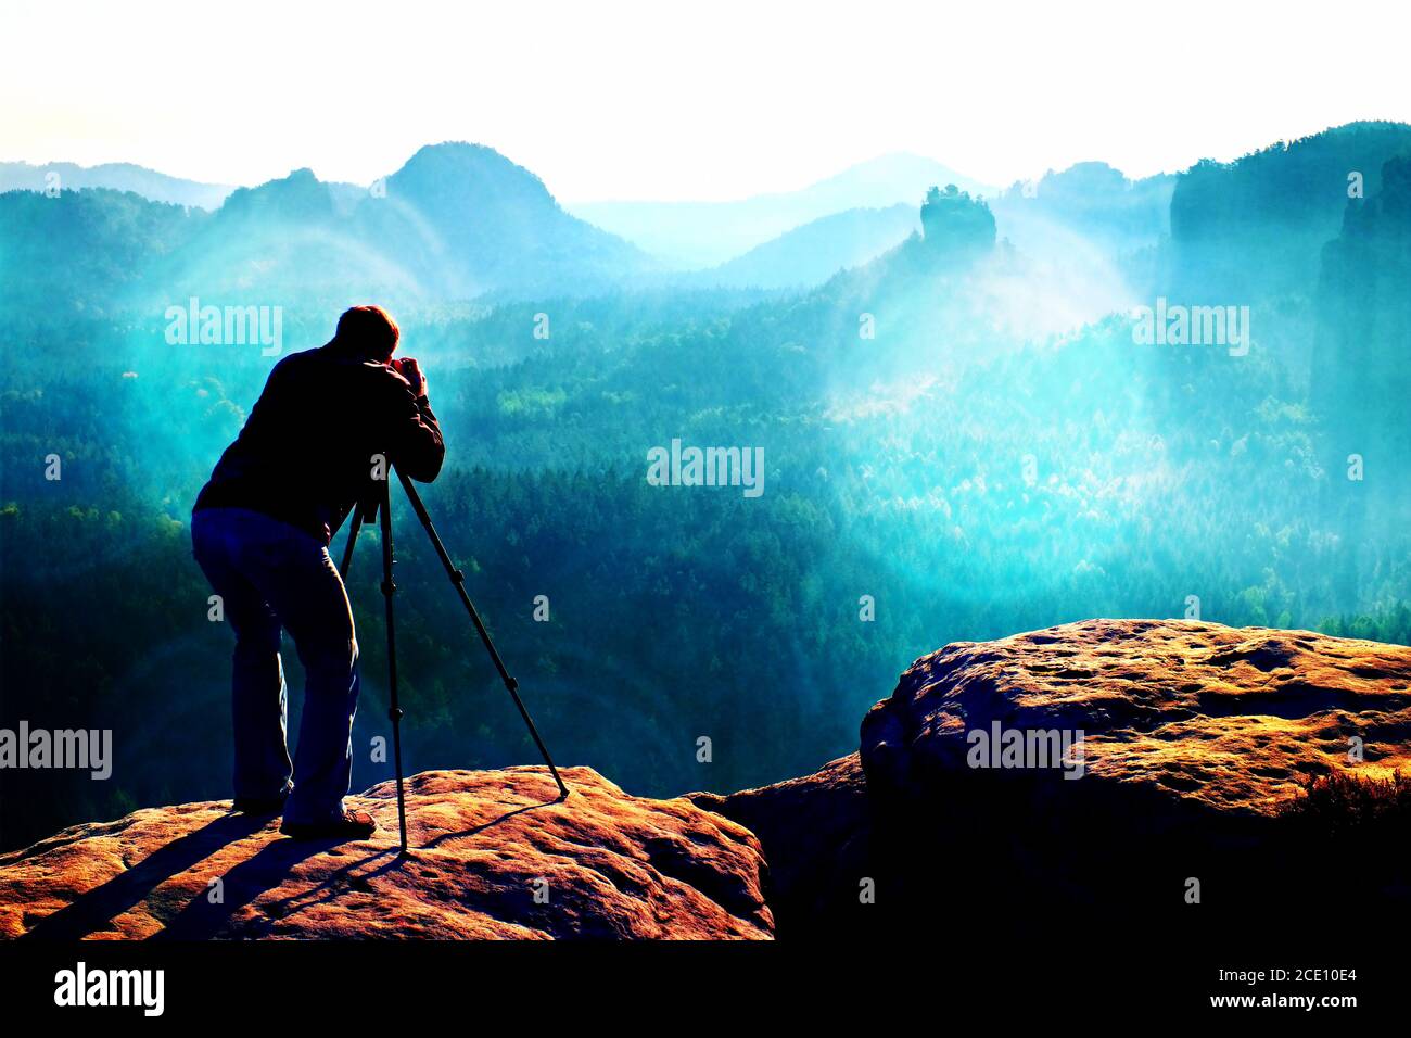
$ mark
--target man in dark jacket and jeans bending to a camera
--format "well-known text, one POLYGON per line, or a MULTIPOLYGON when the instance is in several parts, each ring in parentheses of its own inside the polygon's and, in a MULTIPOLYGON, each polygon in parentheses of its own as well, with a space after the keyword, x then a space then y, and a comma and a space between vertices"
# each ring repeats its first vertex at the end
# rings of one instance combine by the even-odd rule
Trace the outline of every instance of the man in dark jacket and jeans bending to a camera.
POLYGON ((196 562, 236 634, 234 809, 284 813, 295 839, 361 839, 377 830, 346 811, 357 712, 357 637, 329 541, 381 460, 429 483, 446 456, 412 357, 392 360, 401 332, 378 306, 339 318, 325 346, 293 353, 226 448, 192 510, 196 562), (285 743, 282 630, 306 682, 295 761, 285 743))

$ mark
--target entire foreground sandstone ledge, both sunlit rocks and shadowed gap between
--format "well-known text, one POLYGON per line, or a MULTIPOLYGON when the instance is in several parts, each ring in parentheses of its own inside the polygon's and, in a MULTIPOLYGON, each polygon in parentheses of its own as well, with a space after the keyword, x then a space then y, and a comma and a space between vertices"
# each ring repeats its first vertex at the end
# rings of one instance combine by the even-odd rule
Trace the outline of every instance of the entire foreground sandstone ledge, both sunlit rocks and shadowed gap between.
POLYGON ((1005 953, 1336 936, 1411 911, 1407 798, 1376 825, 1336 797, 1292 822, 1284 805, 1309 777, 1398 770, 1411 648, 1089 620, 947 645, 868 713, 858 754, 728 797, 642 799, 571 768, 560 805, 540 768, 426 772, 408 782, 411 860, 391 784, 353 798, 382 832, 341 846, 226 802, 76 826, 0 854, 0 935, 714 939, 777 919, 786 938, 1005 953), (971 767, 968 733, 995 724, 1081 730, 1082 777, 971 767))

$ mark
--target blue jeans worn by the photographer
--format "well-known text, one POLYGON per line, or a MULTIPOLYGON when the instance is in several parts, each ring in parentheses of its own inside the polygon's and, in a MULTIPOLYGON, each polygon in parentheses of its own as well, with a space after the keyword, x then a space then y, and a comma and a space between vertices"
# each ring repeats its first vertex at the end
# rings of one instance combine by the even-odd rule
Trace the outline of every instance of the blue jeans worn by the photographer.
POLYGON ((329 549, 296 527, 246 508, 202 508, 192 515, 190 535, 196 562, 236 633, 236 797, 288 792, 284 816, 291 822, 340 816, 353 778, 357 637, 329 549), (293 638, 306 675, 292 767, 281 628, 293 638))

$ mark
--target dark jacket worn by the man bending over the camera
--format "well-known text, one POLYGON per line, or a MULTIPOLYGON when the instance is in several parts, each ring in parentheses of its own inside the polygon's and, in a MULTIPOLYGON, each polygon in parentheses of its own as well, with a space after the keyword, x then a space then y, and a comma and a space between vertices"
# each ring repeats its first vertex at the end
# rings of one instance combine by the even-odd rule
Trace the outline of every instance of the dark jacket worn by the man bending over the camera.
POLYGON ((327 544, 378 453, 415 480, 436 479, 446 445, 426 397, 387 364, 333 343, 293 353, 274 366, 193 511, 250 508, 327 544))

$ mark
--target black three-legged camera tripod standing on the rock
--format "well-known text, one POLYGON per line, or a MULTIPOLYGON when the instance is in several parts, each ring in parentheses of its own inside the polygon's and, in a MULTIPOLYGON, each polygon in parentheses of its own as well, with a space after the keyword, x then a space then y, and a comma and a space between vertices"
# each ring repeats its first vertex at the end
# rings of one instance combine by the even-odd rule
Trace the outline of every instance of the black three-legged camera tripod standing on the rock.
MULTIPOLYGON (((499 658, 499 652, 495 650, 495 643, 490 638, 490 631, 485 630, 485 624, 481 621, 480 613, 476 612, 476 603, 473 603, 470 600, 470 595, 466 593, 466 575, 456 568, 454 562, 452 562, 450 554, 446 551, 446 545, 442 544, 440 535, 436 532, 436 527, 432 525, 432 517, 430 513, 426 511, 426 506, 422 503, 422 496, 416 493, 416 487, 412 486, 412 482, 402 475, 401 470, 396 470, 396 479, 401 480, 402 490, 406 491, 406 497, 412 503, 412 510, 416 513, 416 518, 422 521, 422 527, 426 530, 426 537, 430 538, 432 547, 436 549, 436 555, 442 561, 442 566, 446 568, 446 575, 460 593, 460 602, 466 606, 466 612, 470 613, 470 621, 474 624, 476 633, 480 634, 480 640, 490 652, 490 660, 495 664, 495 669, 499 672, 499 679, 505 684, 509 698, 515 700, 515 706, 519 708, 519 716, 525 719, 529 734, 533 737, 535 746, 539 747, 540 756, 543 756, 543 763, 549 765, 549 774, 553 775, 553 781, 559 785, 559 797, 555 802, 567 799, 569 787, 566 787, 563 780, 559 777, 559 768, 553 765, 549 748, 539 737, 539 729, 533 726, 533 717, 529 716, 529 710, 525 709, 523 700, 519 698, 519 682, 509 676, 509 671, 505 669, 504 660, 499 658)), ((392 558, 391 480, 384 477, 374 480, 374 483, 380 484, 380 487, 370 490, 353 510, 353 521, 349 527, 349 539, 347 545, 343 548, 343 562, 339 566, 339 573, 344 580, 347 579, 349 566, 353 562, 353 547, 357 544, 358 531, 363 528, 364 523, 375 521, 378 513, 381 513, 382 599, 387 602, 387 693, 389 703, 387 716, 392 722, 392 760, 394 767, 396 768, 396 825, 402 845, 402 854, 405 854, 406 799, 402 794, 402 709, 396 705, 396 628, 392 620, 392 595, 396 592, 396 585, 392 582, 392 563, 395 559, 392 558)))

